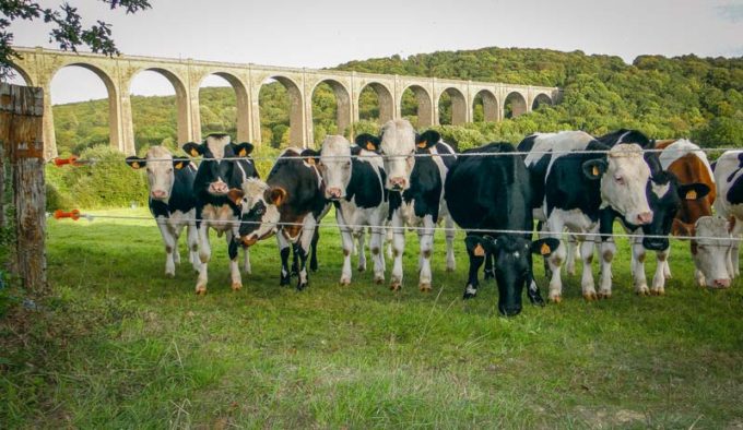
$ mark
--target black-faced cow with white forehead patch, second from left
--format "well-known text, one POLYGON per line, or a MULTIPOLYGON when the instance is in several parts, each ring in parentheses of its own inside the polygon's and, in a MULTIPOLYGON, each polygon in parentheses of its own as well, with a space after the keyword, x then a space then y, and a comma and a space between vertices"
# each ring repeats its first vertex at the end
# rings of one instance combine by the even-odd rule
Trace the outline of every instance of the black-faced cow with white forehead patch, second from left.
MULTIPOLYGON (((208 266, 212 258, 209 229, 219 236, 226 234, 232 289, 243 288, 237 264, 239 207, 227 195, 233 188, 239 188, 248 178, 258 178, 258 171, 249 158, 252 145, 244 142, 231 143, 227 134, 210 134, 202 143, 189 142, 184 151, 192 157, 203 157, 196 172, 193 195, 196 196, 196 227, 199 232, 199 258, 201 270, 196 284, 198 295, 207 294, 208 266)), ((245 251, 245 272, 250 273, 250 256, 245 251)))

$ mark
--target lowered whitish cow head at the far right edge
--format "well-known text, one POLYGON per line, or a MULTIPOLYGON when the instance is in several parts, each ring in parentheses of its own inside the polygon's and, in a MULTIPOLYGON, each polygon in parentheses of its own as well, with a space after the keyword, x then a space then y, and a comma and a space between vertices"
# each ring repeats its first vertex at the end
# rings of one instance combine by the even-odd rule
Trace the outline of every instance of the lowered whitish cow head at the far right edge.
POLYGON ((692 259, 701 273, 697 280, 709 288, 728 288, 733 278, 729 267, 732 252, 730 232, 734 222, 719 216, 703 216, 694 225, 692 236, 692 259), (717 239, 720 238, 720 239, 717 239))

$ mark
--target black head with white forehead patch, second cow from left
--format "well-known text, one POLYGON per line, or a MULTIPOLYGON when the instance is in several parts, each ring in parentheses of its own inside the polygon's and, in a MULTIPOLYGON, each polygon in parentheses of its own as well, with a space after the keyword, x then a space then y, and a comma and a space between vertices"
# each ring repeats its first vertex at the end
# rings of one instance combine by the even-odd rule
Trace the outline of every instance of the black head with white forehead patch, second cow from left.
POLYGON ((203 181, 207 192, 217 196, 227 195, 229 182, 234 178, 235 160, 225 158, 247 157, 252 148, 252 144, 248 142, 231 143, 227 134, 210 134, 202 143, 189 142, 184 145, 186 154, 203 157, 199 165, 198 179, 203 181))

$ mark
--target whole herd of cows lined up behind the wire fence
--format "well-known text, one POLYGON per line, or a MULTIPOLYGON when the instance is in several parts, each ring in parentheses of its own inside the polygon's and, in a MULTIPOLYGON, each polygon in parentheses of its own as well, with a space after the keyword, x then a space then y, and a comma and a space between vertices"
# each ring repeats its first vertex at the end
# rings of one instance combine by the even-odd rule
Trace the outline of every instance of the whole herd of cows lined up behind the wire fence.
POLYGON ((198 167, 161 146, 127 163, 146 170, 150 210, 165 244, 166 275, 175 275, 178 237, 187 227, 189 261, 199 273, 197 294, 207 292, 210 228, 226 237, 233 289, 243 286, 239 250, 244 271, 250 273, 249 248, 274 234, 280 284, 288 285, 296 275, 296 288, 304 289, 308 268, 317 270, 318 224, 331 205, 342 238, 341 284, 351 283, 354 250, 358 268, 366 268, 368 231, 375 282, 385 282, 387 241, 387 258, 393 260, 390 287, 400 289, 404 232, 413 229, 420 239, 418 287, 431 290, 436 226, 446 227, 446 267, 453 271, 456 223, 467 232, 464 298, 476 295, 484 265, 485 278, 496 280, 498 310, 506 315, 521 311, 524 287, 532 303, 544 304, 532 254, 544 259, 549 300, 562 300, 562 266, 575 273, 578 262, 583 264, 583 297, 610 297, 614 220, 632 235, 637 294, 663 294, 671 276, 669 235, 691 239, 700 286, 727 288, 739 274, 735 238, 743 230, 743 151, 727 152, 712 166, 687 140, 653 141, 638 131, 620 130, 600 138, 580 131, 539 133, 517 147, 490 143, 456 153, 437 132, 417 134, 406 120, 393 120, 378 136, 362 134, 354 143, 333 135, 319 152, 287 148, 262 180, 250 143, 210 134, 182 148, 200 158, 198 167), (532 240, 534 222, 538 240, 532 240), (597 247, 598 292, 591 270, 597 247), (654 251, 658 259, 650 288, 646 251, 654 251))

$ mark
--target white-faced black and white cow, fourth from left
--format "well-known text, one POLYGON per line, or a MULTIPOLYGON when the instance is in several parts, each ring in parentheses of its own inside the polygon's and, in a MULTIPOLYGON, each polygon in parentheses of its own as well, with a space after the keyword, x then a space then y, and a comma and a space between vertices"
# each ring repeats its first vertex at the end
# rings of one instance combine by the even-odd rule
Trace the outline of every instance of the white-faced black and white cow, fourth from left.
POLYGON ((325 181, 325 195, 335 205, 335 217, 343 241, 341 285, 351 284, 351 253, 358 240, 358 270, 366 270, 364 229, 370 228, 369 249, 374 260, 374 280, 385 282, 382 236, 389 213, 387 177, 378 143, 371 135, 359 135, 356 146, 340 135, 322 142, 318 167, 325 181))

